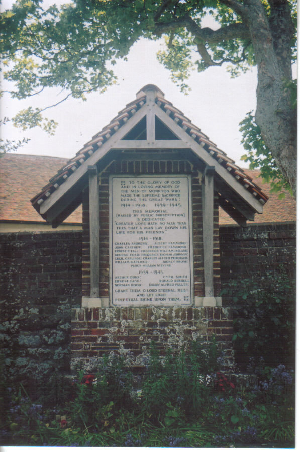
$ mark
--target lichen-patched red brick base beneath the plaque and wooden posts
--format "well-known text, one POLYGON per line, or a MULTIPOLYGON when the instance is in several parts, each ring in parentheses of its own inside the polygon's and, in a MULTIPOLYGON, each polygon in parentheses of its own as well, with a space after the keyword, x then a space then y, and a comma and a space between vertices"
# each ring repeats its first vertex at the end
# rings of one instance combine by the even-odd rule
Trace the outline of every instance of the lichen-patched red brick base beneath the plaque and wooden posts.
POLYGON ((166 348, 188 351, 193 340, 216 336, 233 365, 233 324, 229 308, 149 307, 72 309, 71 368, 78 364, 92 371, 97 360, 111 352, 126 357, 132 368, 142 369, 151 341, 159 354, 166 348))

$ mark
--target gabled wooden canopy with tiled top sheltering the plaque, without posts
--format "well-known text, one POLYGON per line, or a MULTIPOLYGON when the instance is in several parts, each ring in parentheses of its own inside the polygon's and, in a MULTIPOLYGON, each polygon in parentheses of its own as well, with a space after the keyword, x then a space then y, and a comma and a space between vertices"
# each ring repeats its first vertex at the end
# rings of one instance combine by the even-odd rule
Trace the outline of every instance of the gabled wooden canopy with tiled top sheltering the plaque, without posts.
POLYGON ((101 172, 111 161, 122 159, 124 152, 127 160, 184 158, 202 173, 213 167, 219 204, 241 225, 253 221, 255 213, 262 213, 268 199, 232 159, 164 98, 157 86, 146 85, 136 100, 50 179, 31 200, 33 207, 57 227, 81 204, 82 190, 88 186, 88 167, 96 165, 101 172), (131 150, 135 152, 131 154, 131 150), (149 152, 145 154, 145 150, 149 152))

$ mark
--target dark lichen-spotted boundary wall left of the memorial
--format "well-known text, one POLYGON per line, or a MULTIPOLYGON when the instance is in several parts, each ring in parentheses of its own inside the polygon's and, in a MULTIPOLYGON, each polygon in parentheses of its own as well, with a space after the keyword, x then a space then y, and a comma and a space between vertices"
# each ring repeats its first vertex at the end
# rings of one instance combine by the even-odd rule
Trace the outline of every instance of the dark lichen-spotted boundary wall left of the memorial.
MULTIPOLYGON (((69 371, 81 306, 81 231, 0 234, 0 338, 8 380, 69 371)), ((3 378, 4 378, 3 375, 3 378)))

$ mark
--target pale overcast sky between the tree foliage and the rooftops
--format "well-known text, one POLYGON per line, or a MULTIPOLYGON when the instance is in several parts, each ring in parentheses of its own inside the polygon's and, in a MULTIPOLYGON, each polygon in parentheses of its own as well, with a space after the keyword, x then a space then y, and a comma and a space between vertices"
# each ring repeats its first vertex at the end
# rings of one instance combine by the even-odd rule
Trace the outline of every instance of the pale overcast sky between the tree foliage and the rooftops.
MULTIPOLYGON (((9 7, 10 4, 6 0, 3 7, 9 7)), ((202 73, 194 71, 188 81, 191 91, 184 95, 170 80, 169 71, 156 60, 156 52, 162 45, 163 41, 139 41, 129 53, 128 61, 121 60, 114 66, 118 76, 116 85, 108 87, 104 94, 88 95, 85 102, 68 99, 47 110, 46 116, 59 123, 54 136, 48 136, 38 128, 20 131, 8 124, 2 127, 2 138, 19 140, 29 137, 29 143, 20 148, 18 153, 71 158, 128 102, 133 101, 144 85, 153 83, 219 148, 245 167, 246 164, 240 161, 245 151, 240 144, 239 122, 256 107, 256 69, 250 69, 235 79, 230 77, 226 65, 211 67, 202 73)), ((12 117, 29 105, 45 107, 55 104, 65 94, 48 89, 46 93, 25 101, 4 96, 1 100, 1 117, 12 117)))

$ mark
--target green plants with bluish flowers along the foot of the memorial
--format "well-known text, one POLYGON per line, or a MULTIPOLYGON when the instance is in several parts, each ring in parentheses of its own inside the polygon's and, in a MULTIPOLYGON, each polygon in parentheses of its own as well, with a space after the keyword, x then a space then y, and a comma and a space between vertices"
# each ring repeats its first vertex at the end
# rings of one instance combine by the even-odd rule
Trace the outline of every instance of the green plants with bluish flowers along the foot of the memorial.
POLYGON ((220 370, 215 342, 194 342, 186 354, 168 350, 164 358, 152 344, 147 374, 138 386, 124 359, 116 355, 102 359, 94 374, 79 371, 69 396, 69 389, 59 390, 67 400, 57 406, 45 397, 31 400, 22 383, 16 388, 3 384, 8 409, 0 443, 292 447, 293 373, 284 365, 266 366, 262 359, 250 366, 256 378, 234 384, 220 370))

